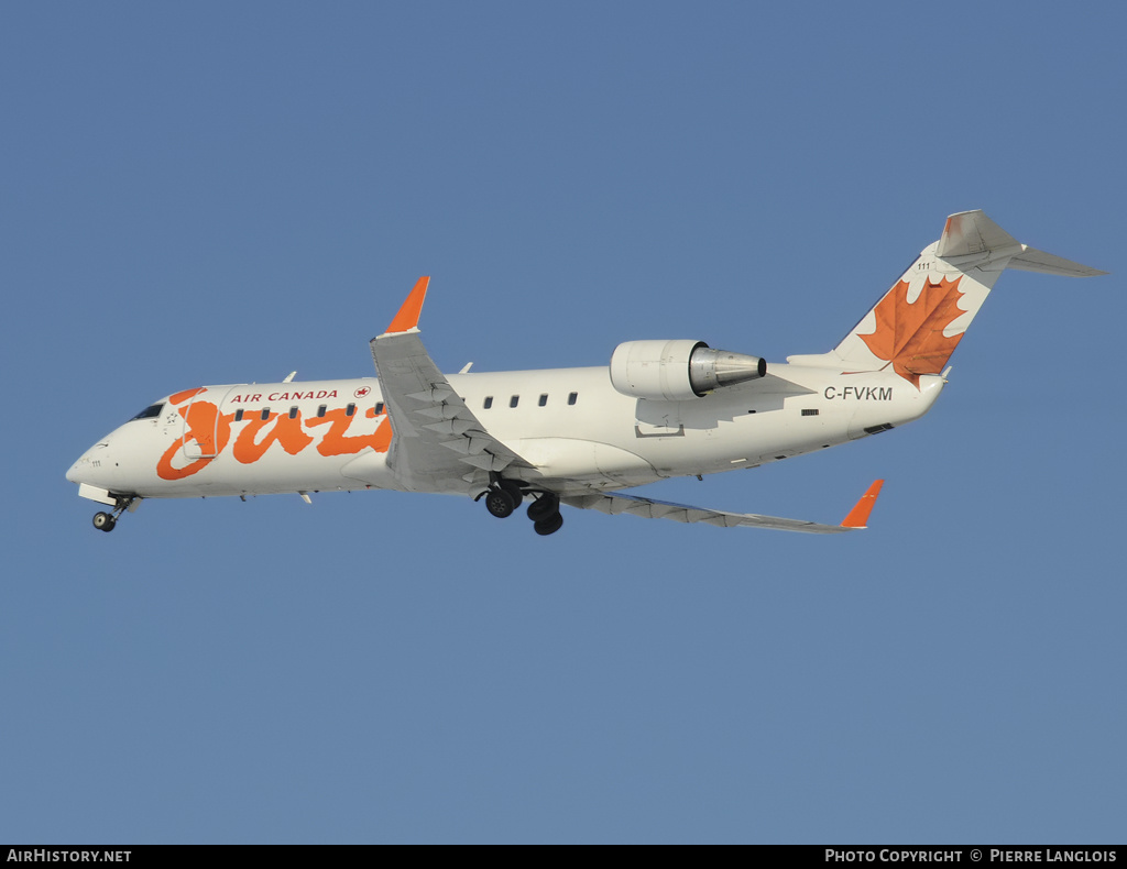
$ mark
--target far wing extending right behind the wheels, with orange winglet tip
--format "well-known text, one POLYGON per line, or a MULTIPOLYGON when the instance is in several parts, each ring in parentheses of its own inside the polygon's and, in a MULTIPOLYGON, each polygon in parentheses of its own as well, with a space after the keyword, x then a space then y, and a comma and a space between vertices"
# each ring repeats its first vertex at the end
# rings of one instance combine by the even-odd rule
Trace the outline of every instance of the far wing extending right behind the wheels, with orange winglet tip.
POLYGON ((561 504, 568 504, 580 509, 597 509, 600 513, 629 513, 642 518, 669 518, 674 522, 704 522, 720 527, 746 525, 749 527, 767 527, 775 531, 799 531, 806 534, 840 534, 843 531, 860 531, 866 527, 872 505, 884 480, 876 480, 861 496, 861 499, 849 512, 840 525, 819 525, 816 522, 805 522, 797 518, 779 516, 758 516, 754 513, 727 513, 722 509, 704 509, 690 507, 686 504, 672 504, 667 500, 639 498, 635 495, 576 495, 560 498, 561 504))

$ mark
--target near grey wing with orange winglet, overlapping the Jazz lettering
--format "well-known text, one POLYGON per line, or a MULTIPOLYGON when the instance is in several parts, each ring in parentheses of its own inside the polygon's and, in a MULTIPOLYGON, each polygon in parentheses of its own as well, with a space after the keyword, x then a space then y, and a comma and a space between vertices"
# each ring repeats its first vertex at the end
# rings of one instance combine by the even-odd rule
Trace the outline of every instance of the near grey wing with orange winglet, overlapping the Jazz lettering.
POLYGON ((393 432, 388 467, 416 491, 467 491, 489 471, 532 465, 486 432, 423 346, 418 320, 429 277, 420 277, 388 330, 371 342, 393 432))

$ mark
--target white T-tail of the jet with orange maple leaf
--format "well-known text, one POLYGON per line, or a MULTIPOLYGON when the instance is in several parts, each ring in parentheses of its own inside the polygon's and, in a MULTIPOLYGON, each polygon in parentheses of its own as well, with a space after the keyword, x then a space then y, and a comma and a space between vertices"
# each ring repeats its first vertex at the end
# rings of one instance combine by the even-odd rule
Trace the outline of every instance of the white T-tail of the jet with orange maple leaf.
POLYGON ((947 219, 943 237, 924 248, 841 344, 788 362, 857 372, 891 366, 919 388, 921 375, 947 366, 1006 268, 1066 277, 1107 274, 1022 245, 982 211, 964 211, 947 219))

